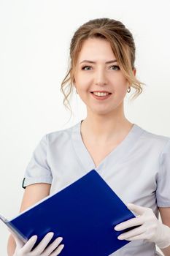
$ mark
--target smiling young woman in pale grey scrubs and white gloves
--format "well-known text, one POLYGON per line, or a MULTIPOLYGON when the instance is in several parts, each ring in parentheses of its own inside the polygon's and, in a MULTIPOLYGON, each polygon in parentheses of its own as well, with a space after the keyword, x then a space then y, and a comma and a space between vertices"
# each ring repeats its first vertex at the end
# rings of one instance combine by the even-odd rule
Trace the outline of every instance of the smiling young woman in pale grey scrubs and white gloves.
MULTIPOLYGON (((112 255, 159 255, 157 244, 168 256, 170 138, 147 132, 128 121, 124 113, 125 95, 133 88, 137 97, 144 84, 136 78, 133 36, 120 21, 89 20, 74 33, 70 57, 71 67, 61 84, 63 102, 69 102, 75 88, 87 107, 87 116, 73 127, 42 137, 26 168, 20 211, 96 169, 137 215, 115 229, 141 225, 118 237, 131 243, 112 255), (63 90, 67 84, 69 94, 63 90)), ((44 239, 39 249, 34 249, 34 256, 61 252, 59 241, 52 244, 55 251, 52 247, 43 251, 50 236, 44 239)), ((35 241, 36 237, 32 237, 23 245, 10 236, 9 256, 14 252, 15 256, 33 255, 29 252, 35 241)))

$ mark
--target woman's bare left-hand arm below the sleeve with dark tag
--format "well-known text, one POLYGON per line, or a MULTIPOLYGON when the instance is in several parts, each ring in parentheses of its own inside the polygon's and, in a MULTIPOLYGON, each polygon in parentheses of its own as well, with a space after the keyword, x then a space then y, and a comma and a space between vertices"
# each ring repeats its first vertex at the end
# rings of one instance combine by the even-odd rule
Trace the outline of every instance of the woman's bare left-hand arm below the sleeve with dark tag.
MULTIPOLYGON (((23 194, 23 200, 20 206, 20 212, 25 211, 26 208, 34 205, 34 203, 50 195, 50 187, 51 185, 47 183, 37 183, 37 184, 31 184, 27 186, 23 194)), ((12 235, 10 235, 7 242, 8 256, 12 256, 14 254, 15 247, 16 247, 15 240, 12 237, 12 235)))

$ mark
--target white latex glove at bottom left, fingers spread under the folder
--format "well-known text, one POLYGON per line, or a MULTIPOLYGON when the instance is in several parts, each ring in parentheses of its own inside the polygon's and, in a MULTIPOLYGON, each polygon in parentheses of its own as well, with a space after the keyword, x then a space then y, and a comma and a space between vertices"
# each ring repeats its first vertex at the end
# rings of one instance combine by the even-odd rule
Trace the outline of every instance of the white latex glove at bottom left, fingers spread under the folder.
POLYGON ((16 249, 13 256, 56 256, 60 254, 64 246, 63 244, 58 246, 63 240, 63 238, 61 237, 56 238, 52 244, 47 246, 47 244, 50 242, 51 238, 53 238, 53 235, 54 235, 53 232, 49 232, 45 235, 42 241, 39 242, 39 244, 34 248, 34 250, 31 251, 34 244, 36 243, 37 236, 31 236, 31 238, 29 238, 26 244, 24 244, 23 241, 21 241, 15 235, 15 233, 13 233, 12 230, 10 230, 9 228, 8 230, 12 234, 16 243, 16 249), (45 249, 46 246, 47 248, 45 249), (57 249, 55 249, 56 247, 57 249), (53 251, 54 249, 55 251, 53 251))

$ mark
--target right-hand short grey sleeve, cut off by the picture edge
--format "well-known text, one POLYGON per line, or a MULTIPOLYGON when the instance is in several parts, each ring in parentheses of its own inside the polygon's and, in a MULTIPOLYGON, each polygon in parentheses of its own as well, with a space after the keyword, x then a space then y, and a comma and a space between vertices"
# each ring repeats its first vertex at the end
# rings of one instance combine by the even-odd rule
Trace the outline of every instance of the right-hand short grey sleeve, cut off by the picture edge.
POLYGON ((156 197, 159 207, 170 207, 170 139, 160 157, 156 197))

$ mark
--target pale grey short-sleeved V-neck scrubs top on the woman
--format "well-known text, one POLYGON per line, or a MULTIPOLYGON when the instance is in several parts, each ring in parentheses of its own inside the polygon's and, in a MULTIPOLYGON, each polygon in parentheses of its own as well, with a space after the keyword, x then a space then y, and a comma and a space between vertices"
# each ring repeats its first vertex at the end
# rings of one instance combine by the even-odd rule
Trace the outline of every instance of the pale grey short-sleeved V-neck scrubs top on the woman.
MULTIPOLYGON (((51 184, 50 195, 95 169, 124 203, 170 207, 170 138, 134 124, 123 141, 96 167, 82 141, 81 123, 50 132, 37 144, 23 177, 30 184, 51 184)), ((112 256, 153 256, 155 243, 131 241, 112 256)), ((96 255, 97 256, 97 255, 96 255)))

